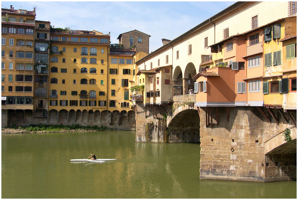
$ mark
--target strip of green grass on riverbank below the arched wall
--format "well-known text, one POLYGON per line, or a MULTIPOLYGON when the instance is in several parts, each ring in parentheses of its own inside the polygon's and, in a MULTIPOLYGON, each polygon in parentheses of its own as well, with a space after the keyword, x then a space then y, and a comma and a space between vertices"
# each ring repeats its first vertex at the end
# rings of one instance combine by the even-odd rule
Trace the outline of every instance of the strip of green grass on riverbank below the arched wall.
POLYGON ((47 125, 47 124, 31 124, 25 127, 18 127, 18 129, 26 130, 26 131, 63 131, 63 130, 95 130, 95 131, 106 131, 106 130, 115 130, 105 126, 80 126, 78 124, 72 124, 64 126, 62 124, 59 125, 47 125))

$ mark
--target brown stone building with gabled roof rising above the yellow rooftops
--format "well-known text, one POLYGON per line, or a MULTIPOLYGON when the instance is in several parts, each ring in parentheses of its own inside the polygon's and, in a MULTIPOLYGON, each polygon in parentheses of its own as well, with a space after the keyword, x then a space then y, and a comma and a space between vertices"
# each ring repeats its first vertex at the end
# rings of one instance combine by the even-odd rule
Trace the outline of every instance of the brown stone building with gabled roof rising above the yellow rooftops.
POLYGON ((121 33, 117 39, 119 40, 119 44, 123 44, 124 49, 130 49, 135 46, 137 52, 144 51, 149 53, 149 37, 151 36, 146 33, 132 30, 126 33, 121 33))

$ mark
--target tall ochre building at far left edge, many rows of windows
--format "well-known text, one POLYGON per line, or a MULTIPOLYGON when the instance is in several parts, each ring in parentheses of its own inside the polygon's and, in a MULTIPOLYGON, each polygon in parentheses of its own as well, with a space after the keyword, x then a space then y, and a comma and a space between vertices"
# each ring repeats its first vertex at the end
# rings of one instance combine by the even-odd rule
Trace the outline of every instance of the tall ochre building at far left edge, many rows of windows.
POLYGON ((35 9, 1 9, 2 119, 24 119, 33 110, 35 9))

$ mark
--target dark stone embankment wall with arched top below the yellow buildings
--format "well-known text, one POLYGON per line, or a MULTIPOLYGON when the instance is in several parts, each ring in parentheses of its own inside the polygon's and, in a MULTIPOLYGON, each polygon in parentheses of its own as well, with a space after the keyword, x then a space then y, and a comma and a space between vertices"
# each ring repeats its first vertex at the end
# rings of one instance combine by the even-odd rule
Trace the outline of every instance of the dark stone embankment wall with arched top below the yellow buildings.
POLYGON ((99 112, 69 111, 66 110, 50 110, 48 117, 33 117, 32 112, 8 112, 2 115, 2 128, 4 127, 20 127, 31 124, 63 124, 72 125, 79 124, 81 126, 104 126, 118 130, 136 130, 135 112, 129 111, 125 116, 120 116, 118 111, 109 112, 107 110, 99 112), (4 118, 5 116, 5 118, 4 118), (5 121, 5 119, 7 119, 5 121), (5 124, 5 125, 4 125, 5 124))

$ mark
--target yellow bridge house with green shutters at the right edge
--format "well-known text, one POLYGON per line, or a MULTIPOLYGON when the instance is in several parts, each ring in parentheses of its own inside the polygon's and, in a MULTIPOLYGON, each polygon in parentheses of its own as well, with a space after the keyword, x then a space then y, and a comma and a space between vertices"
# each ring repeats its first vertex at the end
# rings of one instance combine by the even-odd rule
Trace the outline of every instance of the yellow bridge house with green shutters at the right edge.
POLYGON ((285 109, 289 104, 286 107, 296 110, 296 20, 296 16, 280 19, 263 30, 263 94, 267 108, 285 109))

